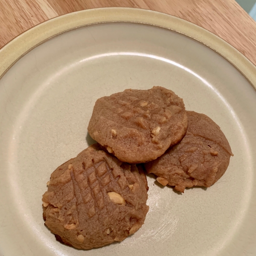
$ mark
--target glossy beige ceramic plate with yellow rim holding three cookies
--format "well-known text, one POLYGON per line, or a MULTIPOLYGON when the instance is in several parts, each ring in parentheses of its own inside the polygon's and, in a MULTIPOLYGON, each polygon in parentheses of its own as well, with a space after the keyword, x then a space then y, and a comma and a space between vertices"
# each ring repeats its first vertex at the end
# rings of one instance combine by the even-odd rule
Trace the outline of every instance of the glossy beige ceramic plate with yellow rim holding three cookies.
POLYGON ((93 9, 57 17, 15 38, 0 50, 3 73, 3 255, 255 255, 256 67, 236 49, 169 15, 93 9), (109 21, 119 22, 99 23, 109 21), (91 23, 98 24, 84 26, 91 23), (235 155, 227 172, 214 186, 183 195, 148 176, 150 210, 137 233, 87 252, 60 244, 42 218, 41 196, 51 172, 91 143, 87 125, 96 99, 154 85, 174 90, 188 110, 220 125, 235 155))

